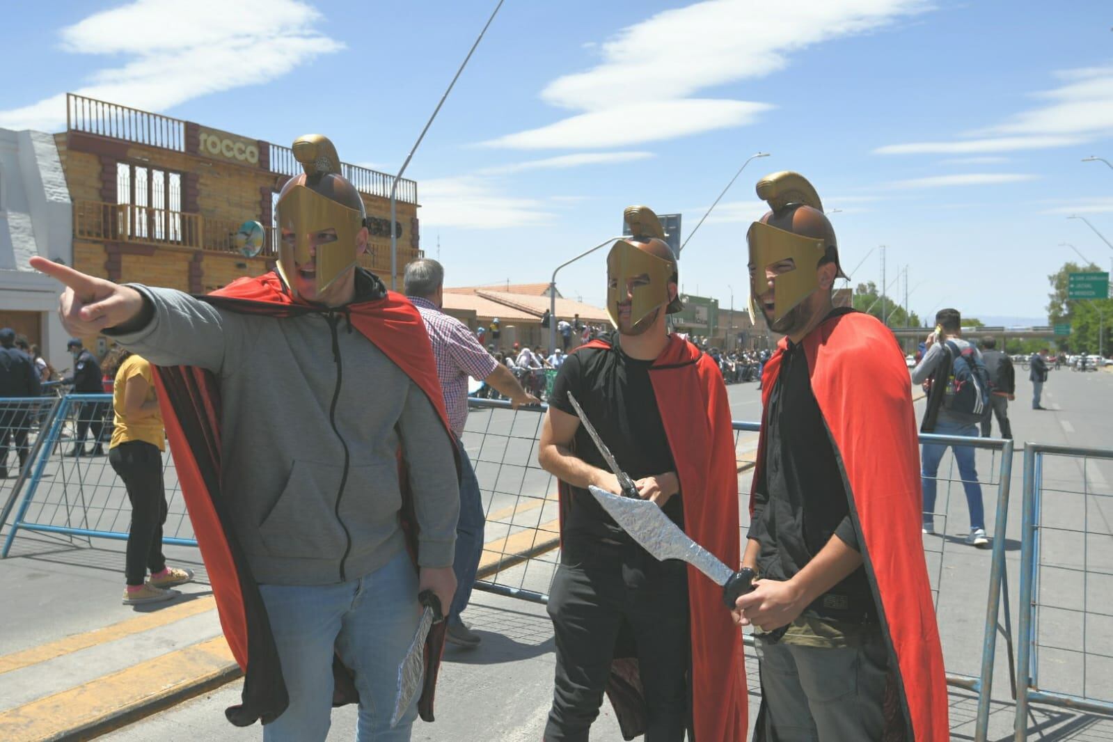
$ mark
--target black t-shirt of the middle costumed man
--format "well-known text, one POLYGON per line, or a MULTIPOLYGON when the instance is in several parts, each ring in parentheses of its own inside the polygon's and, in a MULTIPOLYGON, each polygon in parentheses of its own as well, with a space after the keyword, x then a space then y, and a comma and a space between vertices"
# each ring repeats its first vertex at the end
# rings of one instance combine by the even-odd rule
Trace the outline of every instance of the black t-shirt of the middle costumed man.
MULTIPOLYGON (((618 334, 605 339, 612 344, 611 348, 580 348, 568 355, 556 373, 549 404, 575 415, 568 400, 571 392, 619 466, 632 479, 674 472, 672 451, 649 378, 653 362, 638 360, 622 353, 618 347, 618 334)), ((573 449, 584 462, 610 471, 582 425, 577 428, 573 449)), ((662 509, 673 523, 683 527, 680 493, 672 495, 662 509)), ((572 487, 563 534, 565 537, 583 534, 631 542, 591 493, 579 487, 572 487)))

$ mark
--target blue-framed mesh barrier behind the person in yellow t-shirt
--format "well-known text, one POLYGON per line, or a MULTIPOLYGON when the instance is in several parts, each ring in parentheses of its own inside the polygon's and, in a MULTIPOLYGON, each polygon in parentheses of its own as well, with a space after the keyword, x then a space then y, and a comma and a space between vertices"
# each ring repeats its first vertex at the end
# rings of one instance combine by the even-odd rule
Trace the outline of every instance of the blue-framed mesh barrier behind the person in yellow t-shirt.
MULTIPOLYGON (((46 404, 43 399, 37 402, 46 404)), ((71 394, 50 404, 52 414, 36 441, 31 466, 24 471, 24 492, 0 557, 8 556, 20 531, 60 534, 71 540, 128 537, 131 504, 124 483, 108 463, 112 396, 71 394)), ((162 466, 168 503, 162 541, 196 546, 169 451, 164 454, 162 466)), ((17 494, 13 491, 9 497, 0 524, 7 522, 17 494)))

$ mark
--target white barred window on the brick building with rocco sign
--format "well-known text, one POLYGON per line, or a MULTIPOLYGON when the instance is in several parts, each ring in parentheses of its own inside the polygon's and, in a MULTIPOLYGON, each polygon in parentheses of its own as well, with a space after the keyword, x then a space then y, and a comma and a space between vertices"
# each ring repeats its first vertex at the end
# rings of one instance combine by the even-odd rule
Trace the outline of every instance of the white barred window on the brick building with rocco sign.
POLYGON ((122 235, 158 241, 181 241, 181 174, 116 164, 117 228, 122 235))

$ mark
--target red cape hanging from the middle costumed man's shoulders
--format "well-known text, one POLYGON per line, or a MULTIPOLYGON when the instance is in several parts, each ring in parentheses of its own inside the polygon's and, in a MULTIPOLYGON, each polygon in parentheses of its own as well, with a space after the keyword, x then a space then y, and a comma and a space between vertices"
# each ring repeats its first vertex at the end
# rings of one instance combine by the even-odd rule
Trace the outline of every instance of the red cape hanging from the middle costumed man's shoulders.
MULTIPOLYGON (((610 348, 592 340, 587 348, 610 348)), ((574 350, 573 350, 574 353, 574 350)), ((735 433, 722 374, 710 356, 671 335, 649 369, 677 476, 680 478, 684 532, 725 564, 740 562, 738 468, 735 433)), ((560 485, 561 520, 568 487, 560 485)), ((722 605, 722 587, 688 566, 691 629, 692 724, 697 742, 745 742, 746 666, 742 635, 722 605)), ((644 732, 644 700, 637 663, 617 657, 607 694, 622 735, 644 732)))

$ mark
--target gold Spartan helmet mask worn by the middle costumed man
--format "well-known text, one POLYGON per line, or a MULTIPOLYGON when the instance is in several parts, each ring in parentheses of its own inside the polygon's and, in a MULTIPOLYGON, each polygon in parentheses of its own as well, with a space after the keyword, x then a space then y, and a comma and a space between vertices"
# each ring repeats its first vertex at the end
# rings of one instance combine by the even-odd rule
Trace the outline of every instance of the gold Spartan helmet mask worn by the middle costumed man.
MULTIPOLYGON (((619 304, 630 290, 630 323, 637 325, 657 308, 680 311, 679 297, 669 300, 669 284, 677 281, 677 259, 664 241, 661 220, 647 206, 630 206, 622 212, 630 227, 629 240, 620 239, 607 255, 607 314, 619 326, 619 304)), ((651 323, 650 323, 651 324, 651 323)), ((634 332, 638 335, 648 326, 634 332)))

